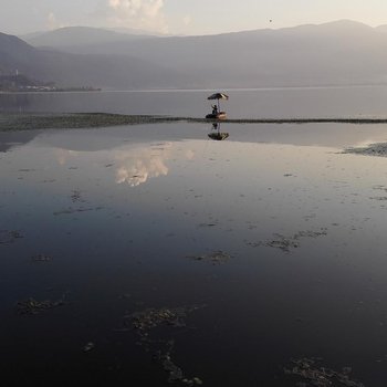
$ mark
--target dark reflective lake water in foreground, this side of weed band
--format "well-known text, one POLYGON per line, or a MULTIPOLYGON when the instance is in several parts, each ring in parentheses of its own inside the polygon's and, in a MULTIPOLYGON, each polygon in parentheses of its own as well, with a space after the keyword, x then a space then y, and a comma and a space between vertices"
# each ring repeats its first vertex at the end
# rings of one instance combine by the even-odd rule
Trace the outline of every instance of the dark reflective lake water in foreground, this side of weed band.
MULTIPOLYGON (((31 95, 23 108, 112 95, 134 98, 31 95)), ((187 123, 0 133, 4 380, 386 385, 387 159, 341 153, 385 142, 386 125, 219 130, 229 137, 187 123)))

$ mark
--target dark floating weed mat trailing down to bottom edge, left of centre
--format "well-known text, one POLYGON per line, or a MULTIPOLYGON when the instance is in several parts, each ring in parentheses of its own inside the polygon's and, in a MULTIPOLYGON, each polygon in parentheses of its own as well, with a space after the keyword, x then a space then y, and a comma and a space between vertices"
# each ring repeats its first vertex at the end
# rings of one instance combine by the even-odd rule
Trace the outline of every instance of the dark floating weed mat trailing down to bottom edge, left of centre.
POLYGON ((206 305, 194 305, 182 307, 147 308, 140 312, 128 314, 124 317, 124 325, 132 327, 139 337, 138 345, 144 351, 153 354, 153 360, 159 364, 168 374, 168 383, 178 383, 185 386, 199 386, 202 380, 198 376, 187 377, 186 373, 177 365, 174 358, 175 339, 170 330, 181 330, 187 327, 188 315, 206 305), (156 334, 160 327, 170 328, 168 334, 156 334))

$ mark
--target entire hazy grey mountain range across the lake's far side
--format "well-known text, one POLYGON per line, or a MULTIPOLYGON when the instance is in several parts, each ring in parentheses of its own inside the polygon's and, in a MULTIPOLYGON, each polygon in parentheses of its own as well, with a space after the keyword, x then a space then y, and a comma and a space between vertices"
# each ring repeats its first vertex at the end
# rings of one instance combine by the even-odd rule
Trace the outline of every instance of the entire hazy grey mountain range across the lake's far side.
POLYGON ((24 39, 0 34, 0 71, 18 69, 63 86, 228 88, 387 82, 387 25, 347 20, 203 36, 66 28, 24 39))

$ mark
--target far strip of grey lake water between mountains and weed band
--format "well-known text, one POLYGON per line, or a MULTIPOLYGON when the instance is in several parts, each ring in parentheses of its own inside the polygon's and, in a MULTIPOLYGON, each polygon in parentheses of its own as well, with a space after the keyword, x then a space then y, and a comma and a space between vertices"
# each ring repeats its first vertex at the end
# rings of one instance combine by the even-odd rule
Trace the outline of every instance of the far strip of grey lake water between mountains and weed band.
MULTIPOLYGON (((224 91, 230 118, 386 117, 387 87, 224 91)), ((104 112, 203 117, 213 91, 0 94, 1 112, 104 112)))

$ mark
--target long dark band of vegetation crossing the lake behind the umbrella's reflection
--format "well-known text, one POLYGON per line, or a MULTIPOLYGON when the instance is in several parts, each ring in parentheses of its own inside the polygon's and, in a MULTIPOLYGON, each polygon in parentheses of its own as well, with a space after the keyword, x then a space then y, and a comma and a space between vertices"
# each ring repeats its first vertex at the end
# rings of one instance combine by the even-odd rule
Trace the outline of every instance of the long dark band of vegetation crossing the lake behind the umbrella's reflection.
POLYGON ((75 129, 122 125, 160 124, 172 122, 224 123, 224 124, 387 124, 386 118, 226 118, 221 121, 198 117, 161 115, 124 115, 108 113, 2 113, 0 132, 33 129, 75 129))

